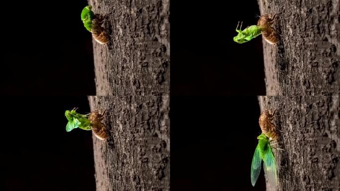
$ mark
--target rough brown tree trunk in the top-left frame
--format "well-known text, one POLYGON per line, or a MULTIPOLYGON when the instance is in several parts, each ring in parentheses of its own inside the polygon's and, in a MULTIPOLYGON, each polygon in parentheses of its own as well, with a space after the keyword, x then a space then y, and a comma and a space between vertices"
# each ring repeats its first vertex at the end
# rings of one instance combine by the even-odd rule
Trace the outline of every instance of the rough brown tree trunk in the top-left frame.
POLYGON ((88 0, 105 16, 106 45, 93 41, 96 95, 170 92, 169 0, 88 0))

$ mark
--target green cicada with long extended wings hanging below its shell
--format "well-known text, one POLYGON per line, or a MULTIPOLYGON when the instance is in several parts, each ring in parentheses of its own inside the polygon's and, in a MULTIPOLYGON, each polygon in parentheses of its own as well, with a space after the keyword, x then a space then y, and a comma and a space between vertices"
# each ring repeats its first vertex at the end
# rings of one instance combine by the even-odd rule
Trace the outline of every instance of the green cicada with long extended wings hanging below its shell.
POLYGON ((258 137, 258 144, 255 149, 253 161, 252 161, 252 171, 251 180, 253 187, 258 179, 261 171, 261 161, 263 161, 264 175, 270 186, 276 187, 277 184, 277 174, 276 174, 276 161, 272 148, 270 146, 269 137, 265 136, 263 133, 258 137))

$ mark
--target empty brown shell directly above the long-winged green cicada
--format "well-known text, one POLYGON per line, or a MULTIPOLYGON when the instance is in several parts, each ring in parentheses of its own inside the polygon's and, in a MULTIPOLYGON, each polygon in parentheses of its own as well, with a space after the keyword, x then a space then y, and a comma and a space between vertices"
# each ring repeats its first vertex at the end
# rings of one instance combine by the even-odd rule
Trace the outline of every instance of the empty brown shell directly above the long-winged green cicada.
POLYGON ((262 133, 271 140, 275 140, 277 138, 277 134, 275 133, 275 125, 271 122, 273 117, 273 113, 271 113, 269 110, 264 110, 258 118, 258 124, 262 130, 262 133))

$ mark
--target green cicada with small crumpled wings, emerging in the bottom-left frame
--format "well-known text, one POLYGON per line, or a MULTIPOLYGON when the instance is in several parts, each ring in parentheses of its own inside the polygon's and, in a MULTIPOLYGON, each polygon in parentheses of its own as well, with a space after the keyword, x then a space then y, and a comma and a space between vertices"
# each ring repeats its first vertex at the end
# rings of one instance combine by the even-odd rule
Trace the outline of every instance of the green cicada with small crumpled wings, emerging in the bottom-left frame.
POLYGON ((66 110, 65 116, 69 122, 66 125, 66 131, 70 132, 72 129, 81 128, 84 130, 91 130, 90 121, 87 119, 88 114, 83 115, 76 112, 77 109, 66 110))

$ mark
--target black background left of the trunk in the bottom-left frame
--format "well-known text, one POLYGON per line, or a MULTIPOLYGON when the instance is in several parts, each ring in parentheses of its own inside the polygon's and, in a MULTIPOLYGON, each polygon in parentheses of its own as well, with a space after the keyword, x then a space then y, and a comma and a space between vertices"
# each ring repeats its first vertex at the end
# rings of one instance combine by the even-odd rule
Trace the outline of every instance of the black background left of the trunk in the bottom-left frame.
POLYGON ((90 111, 86 96, 1 100, 1 191, 95 191, 92 134, 65 130, 65 110, 90 111))

